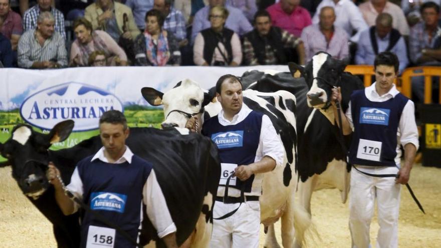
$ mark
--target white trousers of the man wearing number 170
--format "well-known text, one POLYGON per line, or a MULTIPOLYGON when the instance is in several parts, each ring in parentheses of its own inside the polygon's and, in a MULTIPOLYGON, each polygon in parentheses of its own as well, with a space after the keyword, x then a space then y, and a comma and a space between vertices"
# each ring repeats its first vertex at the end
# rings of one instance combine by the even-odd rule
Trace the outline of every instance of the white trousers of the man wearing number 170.
MULTIPOLYGON (((373 174, 384 174, 380 170, 373 174)), ((374 214, 375 198, 378 207, 378 224, 380 225, 376 248, 396 248, 398 246, 400 188, 401 185, 395 184, 393 177, 371 177, 352 168, 349 229, 353 248, 370 247, 369 227, 374 214)))

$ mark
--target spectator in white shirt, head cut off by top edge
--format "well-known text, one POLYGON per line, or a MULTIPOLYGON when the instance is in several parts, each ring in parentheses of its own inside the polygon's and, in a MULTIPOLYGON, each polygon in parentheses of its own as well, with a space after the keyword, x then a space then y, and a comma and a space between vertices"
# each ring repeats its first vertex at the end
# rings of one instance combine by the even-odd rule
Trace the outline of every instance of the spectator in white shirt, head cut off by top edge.
POLYGON ((320 10, 326 6, 334 8, 334 25, 344 29, 351 42, 357 43, 360 33, 368 28, 358 7, 351 0, 323 0, 317 7, 312 23, 319 23, 320 10))

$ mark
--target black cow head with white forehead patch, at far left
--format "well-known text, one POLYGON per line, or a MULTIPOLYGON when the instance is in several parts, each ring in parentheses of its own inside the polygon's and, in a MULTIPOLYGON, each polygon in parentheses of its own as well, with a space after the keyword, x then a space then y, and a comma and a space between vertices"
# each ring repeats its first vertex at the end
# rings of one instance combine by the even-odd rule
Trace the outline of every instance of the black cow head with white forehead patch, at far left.
POLYGON ((26 124, 12 130, 12 137, 0 145, 0 153, 12 166, 12 175, 23 193, 37 199, 49 187, 46 179, 48 148, 64 141, 72 132, 74 121, 62 121, 48 133, 38 133, 26 124))

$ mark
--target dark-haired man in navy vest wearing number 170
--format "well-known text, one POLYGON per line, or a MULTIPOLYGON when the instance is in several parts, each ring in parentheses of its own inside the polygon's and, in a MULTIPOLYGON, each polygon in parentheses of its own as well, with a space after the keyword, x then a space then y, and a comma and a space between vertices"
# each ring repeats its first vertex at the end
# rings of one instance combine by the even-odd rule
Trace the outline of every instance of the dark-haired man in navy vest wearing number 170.
MULTIPOLYGON (((376 82, 351 95, 346 115, 340 110, 343 134, 353 132, 348 154, 349 163, 354 166, 349 198, 353 248, 370 247, 369 226, 375 199, 380 225, 376 247, 398 247, 400 184, 409 180, 419 145, 413 102, 393 84, 398 67, 395 54, 378 54, 374 61, 376 82), (404 147, 402 166, 401 145, 404 147), (381 177, 387 174, 396 177, 381 177)), ((333 90, 332 100, 341 101, 339 91, 333 90)), ((338 118, 335 103, 333 106, 338 118)))

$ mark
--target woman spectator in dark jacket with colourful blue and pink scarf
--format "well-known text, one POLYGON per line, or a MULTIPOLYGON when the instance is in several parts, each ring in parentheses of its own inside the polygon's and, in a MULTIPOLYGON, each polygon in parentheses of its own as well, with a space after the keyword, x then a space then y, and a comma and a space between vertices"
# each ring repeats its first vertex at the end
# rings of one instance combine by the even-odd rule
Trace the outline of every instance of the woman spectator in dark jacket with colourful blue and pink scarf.
POLYGON ((178 42, 173 33, 163 30, 164 16, 158 10, 145 15, 145 32, 136 37, 136 66, 178 66, 181 62, 178 42))

